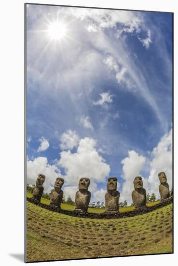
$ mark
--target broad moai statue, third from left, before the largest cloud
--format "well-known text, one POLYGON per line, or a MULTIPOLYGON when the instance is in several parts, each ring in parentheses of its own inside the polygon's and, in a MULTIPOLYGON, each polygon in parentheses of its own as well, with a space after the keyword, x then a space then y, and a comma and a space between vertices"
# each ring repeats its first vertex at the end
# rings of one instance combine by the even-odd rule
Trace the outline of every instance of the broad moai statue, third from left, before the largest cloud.
POLYGON ((91 198, 91 193, 88 191, 89 185, 89 178, 82 177, 79 180, 79 191, 75 195, 75 211, 87 212, 91 198))

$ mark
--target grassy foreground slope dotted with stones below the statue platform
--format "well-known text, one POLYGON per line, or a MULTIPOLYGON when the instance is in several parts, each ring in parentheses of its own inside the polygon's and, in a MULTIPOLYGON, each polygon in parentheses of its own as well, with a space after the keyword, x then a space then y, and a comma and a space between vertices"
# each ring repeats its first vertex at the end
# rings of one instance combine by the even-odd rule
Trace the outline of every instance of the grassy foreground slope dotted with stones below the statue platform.
POLYGON ((96 220, 27 202, 27 261, 172 252, 172 204, 130 218, 96 220))

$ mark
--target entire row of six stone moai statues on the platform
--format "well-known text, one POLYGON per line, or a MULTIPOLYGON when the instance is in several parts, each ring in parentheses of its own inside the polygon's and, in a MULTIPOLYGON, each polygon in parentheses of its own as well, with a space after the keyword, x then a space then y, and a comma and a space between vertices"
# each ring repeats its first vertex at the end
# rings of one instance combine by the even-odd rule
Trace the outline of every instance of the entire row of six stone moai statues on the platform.
MULTIPOLYGON (((158 174, 160 185, 159 192, 161 200, 170 197, 169 185, 167 183, 167 178, 164 172, 158 174)), ((43 193, 43 183, 45 181, 45 176, 40 174, 36 180, 36 186, 33 189, 33 198, 37 201, 41 201, 41 196, 43 193)), ((142 177, 135 177, 134 179, 134 191, 132 192, 132 201, 136 208, 146 207, 146 190, 143 188, 142 177)), ((63 191, 61 190, 64 184, 64 179, 57 177, 54 185, 54 189, 51 192, 50 205, 60 208, 61 201, 63 198, 63 191)), ((90 185, 90 179, 87 177, 82 177, 79 180, 79 191, 76 192, 75 196, 75 211, 87 212, 88 205, 91 198, 91 193, 88 191, 90 185)), ((108 177, 107 192, 105 194, 105 212, 113 213, 119 210, 119 197, 120 192, 117 191, 117 178, 108 177)))

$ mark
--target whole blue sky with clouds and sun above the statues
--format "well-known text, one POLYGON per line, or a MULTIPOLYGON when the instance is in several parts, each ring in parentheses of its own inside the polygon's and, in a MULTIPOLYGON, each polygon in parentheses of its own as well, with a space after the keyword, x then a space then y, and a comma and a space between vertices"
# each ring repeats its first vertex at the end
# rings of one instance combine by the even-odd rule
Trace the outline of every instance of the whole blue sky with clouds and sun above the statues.
POLYGON ((85 175, 102 201, 115 176, 129 202, 142 175, 158 195, 159 170, 172 185, 171 130, 171 13, 27 6, 29 183, 42 171, 50 191, 60 175, 74 197, 85 175))

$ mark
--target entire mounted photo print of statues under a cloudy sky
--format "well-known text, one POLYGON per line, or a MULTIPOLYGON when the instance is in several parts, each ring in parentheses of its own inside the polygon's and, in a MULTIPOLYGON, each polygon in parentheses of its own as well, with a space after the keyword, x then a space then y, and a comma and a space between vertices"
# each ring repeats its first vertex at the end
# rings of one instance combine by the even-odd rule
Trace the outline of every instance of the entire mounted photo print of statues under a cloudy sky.
POLYGON ((173 253, 173 13, 25 4, 26 262, 173 253))

